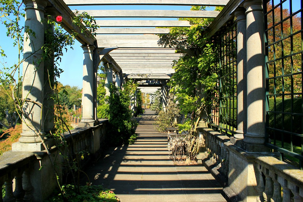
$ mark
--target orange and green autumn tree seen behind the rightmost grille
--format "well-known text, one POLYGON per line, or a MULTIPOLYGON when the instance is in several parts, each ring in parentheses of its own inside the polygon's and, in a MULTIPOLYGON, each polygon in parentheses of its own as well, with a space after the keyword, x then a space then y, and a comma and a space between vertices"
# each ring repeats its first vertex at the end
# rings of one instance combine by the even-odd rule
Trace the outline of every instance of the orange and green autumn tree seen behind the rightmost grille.
MULTIPOLYGON (((273 5, 271 2, 268 2, 267 10, 269 11, 272 8, 273 5)), ((267 41, 270 45, 268 47, 268 61, 272 61, 268 63, 267 66, 269 78, 300 73, 302 71, 302 58, 300 53, 301 32, 291 36, 291 34, 301 30, 301 17, 295 15, 292 18, 288 18, 289 16, 290 11, 286 8, 281 11, 280 6, 267 15, 267 27, 271 28, 274 25, 274 27, 267 32, 267 41), (280 23, 281 18, 288 19, 283 23, 280 23), (283 25, 283 29, 281 25, 283 25), (279 40, 281 41, 278 43, 275 42, 279 40), (282 57, 285 58, 282 59, 282 57)), ((292 91, 294 93, 301 93, 301 74, 269 79, 270 94, 282 94, 282 91, 286 94, 291 93, 292 91), (293 85, 291 82, 293 82, 293 85)), ((285 98, 290 98, 290 95, 285 95, 285 98)))

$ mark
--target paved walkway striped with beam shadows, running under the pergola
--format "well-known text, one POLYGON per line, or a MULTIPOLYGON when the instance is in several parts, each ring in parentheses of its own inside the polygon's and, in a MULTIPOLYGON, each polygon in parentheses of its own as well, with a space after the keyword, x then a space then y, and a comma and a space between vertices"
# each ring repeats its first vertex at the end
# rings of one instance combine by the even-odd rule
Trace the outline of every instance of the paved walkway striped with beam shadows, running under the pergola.
POLYGON ((86 170, 92 184, 113 190, 122 202, 226 201, 222 187, 205 167, 173 164, 167 134, 156 132, 154 118, 154 111, 145 110, 135 144, 112 148, 86 170))

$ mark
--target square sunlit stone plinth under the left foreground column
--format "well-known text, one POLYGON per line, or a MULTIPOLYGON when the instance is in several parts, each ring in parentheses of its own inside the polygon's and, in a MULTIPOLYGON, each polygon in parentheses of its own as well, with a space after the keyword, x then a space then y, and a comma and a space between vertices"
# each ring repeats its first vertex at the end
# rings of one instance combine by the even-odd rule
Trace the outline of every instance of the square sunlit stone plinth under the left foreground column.
MULTIPOLYGON (((48 148, 54 146, 54 140, 48 139, 45 141, 45 144, 48 148)), ((15 142, 12 144, 12 151, 43 151, 45 150, 42 142, 37 143, 22 143, 22 142, 15 142)))

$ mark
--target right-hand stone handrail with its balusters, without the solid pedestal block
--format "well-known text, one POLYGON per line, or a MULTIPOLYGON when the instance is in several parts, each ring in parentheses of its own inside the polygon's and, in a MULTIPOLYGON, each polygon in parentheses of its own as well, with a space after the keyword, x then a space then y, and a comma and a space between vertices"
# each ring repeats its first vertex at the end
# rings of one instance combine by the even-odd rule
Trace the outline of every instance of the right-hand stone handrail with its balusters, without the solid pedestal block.
MULTIPOLYGON (((229 153, 233 153, 252 163, 255 173, 253 181, 256 181, 254 189, 257 192, 255 195, 257 201, 303 201, 303 171, 279 161, 277 159, 278 154, 247 152, 231 144, 229 137, 213 131, 211 128, 199 128, 199 131, 204 133, 206 137, 203 164, 217 176, 218 180, 221 181, 220 176, 218 176, 220 174, 223 174, 226 180, 232 180, 228 176, 234 174, 234 171, 229 171, 231 168, 229 153)), ((232 167, 237 166, 233 165, 232 167)), ((230 184, 231 182, 227 183, 226 181, 223 186, 228 187, 230 184)))

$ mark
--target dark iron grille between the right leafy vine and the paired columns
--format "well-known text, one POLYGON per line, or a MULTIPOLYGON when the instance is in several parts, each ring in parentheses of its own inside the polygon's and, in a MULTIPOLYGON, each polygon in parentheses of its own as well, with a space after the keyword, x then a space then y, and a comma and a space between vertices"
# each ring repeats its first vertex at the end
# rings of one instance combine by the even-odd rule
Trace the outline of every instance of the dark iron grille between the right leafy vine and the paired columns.
POLYGON ((216 39, 218 94, 212 96, 211 127, 228 136, 237 128, 237 25, 229 28, 216 39))

